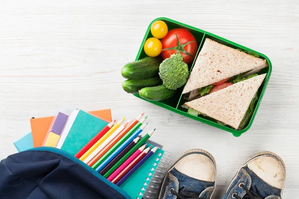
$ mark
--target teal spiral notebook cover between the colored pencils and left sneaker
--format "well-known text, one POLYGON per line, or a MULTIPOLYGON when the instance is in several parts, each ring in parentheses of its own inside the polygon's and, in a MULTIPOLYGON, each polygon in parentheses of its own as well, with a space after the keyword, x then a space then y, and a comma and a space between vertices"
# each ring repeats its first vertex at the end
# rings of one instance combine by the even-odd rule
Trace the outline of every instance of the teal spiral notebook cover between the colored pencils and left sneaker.
MULTIPOLYGON (((151 144, 147 145, 147 147, 149 146, 153 147, 151 144)), ((130 176, 120 186, 120 188, 127 192, 132 199, 142 199, 163 154, 164 151, 162 149, 158 149, 139 169, 134 172, 132 176, 130 176)))

